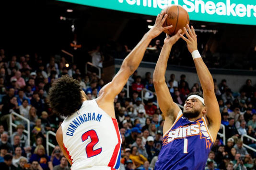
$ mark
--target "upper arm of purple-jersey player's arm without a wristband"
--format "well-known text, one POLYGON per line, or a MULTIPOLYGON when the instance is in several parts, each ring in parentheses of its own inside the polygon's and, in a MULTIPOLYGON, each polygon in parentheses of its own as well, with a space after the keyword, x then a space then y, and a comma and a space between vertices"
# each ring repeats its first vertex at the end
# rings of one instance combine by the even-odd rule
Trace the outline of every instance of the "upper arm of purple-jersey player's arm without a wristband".
POLYGON ((173 98, 165 82, 154 83, 157 101, 164 116, 173 116, 175 119, 180 111, 180 108, 173 102, 173 98))

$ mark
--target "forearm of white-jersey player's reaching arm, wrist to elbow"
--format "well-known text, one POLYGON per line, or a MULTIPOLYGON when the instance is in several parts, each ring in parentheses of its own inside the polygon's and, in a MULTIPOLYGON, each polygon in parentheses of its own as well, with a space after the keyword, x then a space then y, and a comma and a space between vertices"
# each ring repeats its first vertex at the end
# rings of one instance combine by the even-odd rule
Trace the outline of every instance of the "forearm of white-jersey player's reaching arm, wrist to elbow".
POLYGON ((151 40, 152 38, 149 33, 146 33, 136 47, 124 59, 121 68, 126 68, 130 75, 133 74, 133 72, 139 67, 151 40))

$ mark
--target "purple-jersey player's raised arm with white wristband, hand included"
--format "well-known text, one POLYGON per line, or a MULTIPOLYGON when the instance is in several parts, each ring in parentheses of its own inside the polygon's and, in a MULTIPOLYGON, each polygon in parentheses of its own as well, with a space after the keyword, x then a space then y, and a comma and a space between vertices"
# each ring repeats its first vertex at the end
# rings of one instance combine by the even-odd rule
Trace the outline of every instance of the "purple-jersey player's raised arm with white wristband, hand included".
POLYGON ((215 140, 221 126, 221 113, 217 98, 214 93, 213 79, 207 66, 204 64, 200 53, 198 52, 197 35, 193 26, 191 26, 190 29, 189 26, 186 25, 186 28, 184 28, 184 31, 187 38, 183 35, 180 36, 183 40, 186 41, 187 49, 192 54, 194 63, 196 65, 198 77, 203 89, 206 106, 206 117, 209 120, 209 131, 215 140), (186 28, 188 32, 186 31, 186 28))

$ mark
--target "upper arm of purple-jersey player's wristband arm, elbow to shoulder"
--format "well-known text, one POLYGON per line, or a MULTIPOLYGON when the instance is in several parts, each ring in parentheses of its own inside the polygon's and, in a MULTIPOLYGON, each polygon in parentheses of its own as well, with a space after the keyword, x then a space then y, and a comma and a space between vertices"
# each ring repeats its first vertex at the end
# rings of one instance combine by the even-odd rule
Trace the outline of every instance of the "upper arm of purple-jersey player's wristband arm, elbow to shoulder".
POLYGON ((221 113, 217 98, 214 92, 204 92, 206 115, 209 119, 209 130, 212 136, 217 136, 221 126, 221 113))

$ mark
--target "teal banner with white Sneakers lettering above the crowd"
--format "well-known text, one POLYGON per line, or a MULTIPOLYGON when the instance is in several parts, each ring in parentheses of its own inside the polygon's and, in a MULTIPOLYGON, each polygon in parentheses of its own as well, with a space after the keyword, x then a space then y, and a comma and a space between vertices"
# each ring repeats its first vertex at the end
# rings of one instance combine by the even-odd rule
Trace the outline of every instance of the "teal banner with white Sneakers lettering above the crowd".
POLYGON ((156 16, 167 5, 181 5, 190 20, 256 25, 256 0, 59 0, 156 16))

